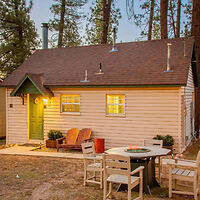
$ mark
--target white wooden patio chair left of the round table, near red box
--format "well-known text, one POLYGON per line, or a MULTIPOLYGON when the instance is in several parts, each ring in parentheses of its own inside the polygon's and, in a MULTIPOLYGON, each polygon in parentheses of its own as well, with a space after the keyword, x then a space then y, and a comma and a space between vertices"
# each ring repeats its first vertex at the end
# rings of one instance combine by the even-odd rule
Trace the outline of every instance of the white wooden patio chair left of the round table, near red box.
POLYGON ((84 159, 84 181, 83 185, 86 183, 96 183, 103 188, 103 164, 102 156, 97 156, 95 153, 94 143, 86 142, 82 143, 83 159, 84 159), (92 172, 92 176, 88 176, 88 172, 92 172), (97 177, 99 173, 99 177, 97 177), (99 181, 97 180, 99 178, 99 181))

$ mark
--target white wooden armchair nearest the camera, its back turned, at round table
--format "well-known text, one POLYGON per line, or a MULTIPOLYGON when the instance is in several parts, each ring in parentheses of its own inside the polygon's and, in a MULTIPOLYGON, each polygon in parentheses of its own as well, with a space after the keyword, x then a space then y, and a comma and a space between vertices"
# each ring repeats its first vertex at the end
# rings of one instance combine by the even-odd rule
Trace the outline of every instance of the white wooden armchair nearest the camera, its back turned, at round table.
POLYGON ((143 166, 131 171, 130 157, 104 154, 104 193, 103 200, 112 198, 113 183, 128 185, 128 200, 131 200, 131 189, 139 185, 139 197, 135 200, 143 199, 143 166), (139 173, 138 176, 133 176, 139 173), (107 183, 109 182, 109 192, 107 194, 107 183))

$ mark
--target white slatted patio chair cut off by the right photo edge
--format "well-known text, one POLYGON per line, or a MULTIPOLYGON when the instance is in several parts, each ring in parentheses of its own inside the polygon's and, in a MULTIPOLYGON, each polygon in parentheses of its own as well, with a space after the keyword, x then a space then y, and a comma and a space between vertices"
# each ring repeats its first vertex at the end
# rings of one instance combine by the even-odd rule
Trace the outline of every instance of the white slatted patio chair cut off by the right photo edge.
POLYGON ((198 200, 199 192, 199 166, 200 166, 200 151, 197 154, 196 161, 184 159, 171 159, 168 163, 169 166, 169 198, 172 194, 185 194, 194 195, 194 199, 198 200), (176 181, 193 182, 193 192, 186 192, 180 190, 173 190, 173 180, 176 187, 176 181))

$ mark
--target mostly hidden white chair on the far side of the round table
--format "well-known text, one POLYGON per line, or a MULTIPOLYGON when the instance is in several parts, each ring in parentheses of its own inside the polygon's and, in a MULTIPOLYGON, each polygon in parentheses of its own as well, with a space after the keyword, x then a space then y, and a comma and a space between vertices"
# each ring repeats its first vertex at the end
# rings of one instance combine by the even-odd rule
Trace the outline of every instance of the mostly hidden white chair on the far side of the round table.
MULTIPOLYGON (((158 146, 158 147, 162 148, 163 147, 163 140, 144 139, 143 145, 144 146, 158 146)), ((160 184, 161 184, 161 169, 162 169, 162 162, 161 162, 160 156, 158 156, 158 180, 159 180, 160 184)))

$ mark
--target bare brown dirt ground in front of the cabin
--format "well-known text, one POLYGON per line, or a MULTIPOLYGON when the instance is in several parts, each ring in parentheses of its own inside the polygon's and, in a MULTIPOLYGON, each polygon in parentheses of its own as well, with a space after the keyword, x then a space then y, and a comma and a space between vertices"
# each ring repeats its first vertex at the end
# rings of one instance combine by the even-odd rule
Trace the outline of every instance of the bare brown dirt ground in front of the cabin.
MULTIPOLYGON (((167 200, 167 180, 154 188, 148 200, 167 200)), ((133 197, 136 196, 132 192, 133 197)), ((0 155, 1 200, 102 200, 98 185, 83 186, 83 161, 32 156, 0 155)), ((127 199, 126 192, 117 192, 113 199, 127 199)), ((174 200, 192 199, 174 196, 174 200)))

